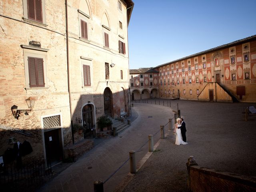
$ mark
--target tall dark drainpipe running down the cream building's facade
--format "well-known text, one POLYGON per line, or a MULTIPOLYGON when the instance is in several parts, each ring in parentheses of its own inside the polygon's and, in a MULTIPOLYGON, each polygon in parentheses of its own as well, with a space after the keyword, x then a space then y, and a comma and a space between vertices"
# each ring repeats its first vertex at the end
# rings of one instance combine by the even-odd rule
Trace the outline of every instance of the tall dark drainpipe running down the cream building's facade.
POLYGON ((68 96, 70 106, 70 125, 72 134, 72 143, 74 144, 74 133, 73 133, 73 120, 72 120, 72 104, 71 104, 71 92, 70 92, 70 66, 69 66, 69 47, 68 47, 68 0, 65 0, 66 4, 66 45, 67 45, 67 68, 68 68, 68 96))

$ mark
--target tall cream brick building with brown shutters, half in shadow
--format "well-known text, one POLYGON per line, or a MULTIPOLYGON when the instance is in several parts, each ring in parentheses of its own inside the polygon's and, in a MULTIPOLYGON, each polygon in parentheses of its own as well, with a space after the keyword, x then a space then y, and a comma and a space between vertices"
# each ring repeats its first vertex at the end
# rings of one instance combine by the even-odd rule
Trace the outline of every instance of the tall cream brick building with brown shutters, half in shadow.
POLYGON ((99 116, 129 111, 133 6, 131 0, 0 1, 0 156, 26 140, 33 152, 23 160, 58 162, 73 142, 96 136, 99 116))

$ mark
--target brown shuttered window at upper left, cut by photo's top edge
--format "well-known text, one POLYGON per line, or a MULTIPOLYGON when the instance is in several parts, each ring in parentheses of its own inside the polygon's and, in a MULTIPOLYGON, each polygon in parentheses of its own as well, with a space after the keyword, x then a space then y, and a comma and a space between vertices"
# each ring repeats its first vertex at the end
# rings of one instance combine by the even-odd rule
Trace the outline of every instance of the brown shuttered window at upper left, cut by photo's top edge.
POLYGON ((42 23, 42 0, 27 0, 27 4, 28 18, 42 23))

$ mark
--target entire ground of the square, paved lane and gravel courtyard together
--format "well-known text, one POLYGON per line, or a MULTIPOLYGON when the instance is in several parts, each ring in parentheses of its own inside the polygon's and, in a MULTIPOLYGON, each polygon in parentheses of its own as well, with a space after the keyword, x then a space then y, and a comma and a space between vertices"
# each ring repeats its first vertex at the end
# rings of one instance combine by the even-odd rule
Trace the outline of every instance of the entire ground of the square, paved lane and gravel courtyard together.
POLYGON ((129 128, 117 137, 102 140, 39 191, 92 192, 95 180, 106 181, 105 192, 188 191, 186 162, 190 155, 202 167, 256 176, 256 117, 249 116, 245 122, 242 113, 255 104, 172 100, 170 108, 167 104, 149 103, 134 103, 138 118, 129 128), (177 109, 177 104, 186 122, 188 145, 174 145, 175 138, 172 131, 168 132, 168 126, 168 136, 159 139, 160 125, 174 117, 172 110, 177 109), (138 163, 148 152, 148 134, 156 132, 154 143, 160 140, 159 146, 132 180, 124 182, 129 172, 129 162, 124 164, 129 151, 138 150, 138 163), (116 189, 120 183, 127 184, 126 188, 116 189))

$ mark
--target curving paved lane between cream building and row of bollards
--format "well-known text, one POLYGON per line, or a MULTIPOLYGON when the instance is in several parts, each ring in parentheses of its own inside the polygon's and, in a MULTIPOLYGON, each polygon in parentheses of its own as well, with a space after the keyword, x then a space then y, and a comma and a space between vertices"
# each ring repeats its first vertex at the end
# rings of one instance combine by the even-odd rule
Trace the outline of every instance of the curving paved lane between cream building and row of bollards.
MULTIPOLYGON (((137 151, 136 162, 139 162, 148 152, 148 135, 157 133, 154 136, 157 141, 160 138, 160 125, 168 123, 168 118, 174 115, 171 108, 157 105, 134 106, 134 110, 138 113, 138 118, 130 127, 118 136, 102 141, 38 191, 92 192, 94 181, 106 181, 129 159, 130 150, 137 151)), ((104 192, 114 191, 129 170, 127 162, 104 183, 104 192)))

